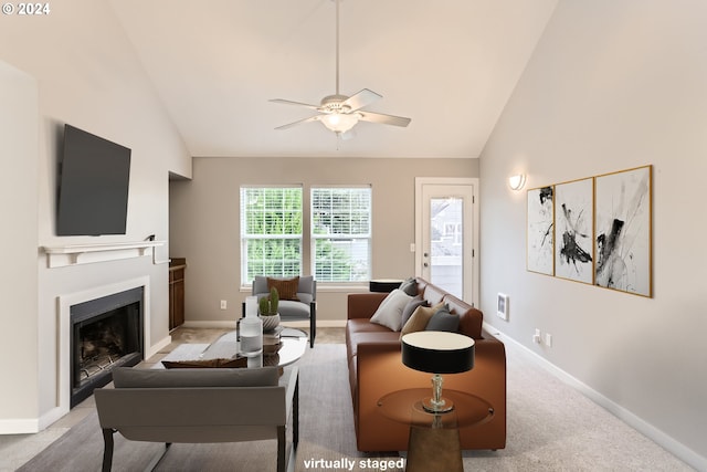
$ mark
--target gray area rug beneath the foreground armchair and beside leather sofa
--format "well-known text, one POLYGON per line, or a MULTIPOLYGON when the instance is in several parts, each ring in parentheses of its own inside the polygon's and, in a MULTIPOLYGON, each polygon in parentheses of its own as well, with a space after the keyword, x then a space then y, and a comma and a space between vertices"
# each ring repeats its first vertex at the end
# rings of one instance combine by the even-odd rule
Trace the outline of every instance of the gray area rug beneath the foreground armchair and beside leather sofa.
MULTIPOLYGON (((299 445, 291 470, 402 470, 389 465, 400 462, 395 453, 366 454, 356 449, 345 345, 316 345, 308 348, 296 365, 299 367, 299 445), (386 464, 381 468, 382 462, 377 461, 386 464)), ((127 441, 115 434, 113 470, 145 470, 162 448, 162 444, 127 441)), ((93 412, 19 470, 97 471, 102 460, 103 437, 98 417, 93 412)), ((276 470, 276 442, 172 444, 156 470, 272 472, 276 470)))

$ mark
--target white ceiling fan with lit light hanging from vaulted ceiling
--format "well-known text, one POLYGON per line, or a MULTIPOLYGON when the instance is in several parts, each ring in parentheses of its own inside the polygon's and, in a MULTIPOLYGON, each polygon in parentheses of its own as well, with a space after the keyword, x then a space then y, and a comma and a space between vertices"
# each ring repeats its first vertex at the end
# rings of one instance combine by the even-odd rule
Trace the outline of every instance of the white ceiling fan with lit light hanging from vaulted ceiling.
POLYGON ((339 93, 339 1, 336 2, 336 93, 321 98, 319 105, 309 105, 306 103, 293 102, 288 99, 274 98, 271 102, 283 103, 285 105, 297 105, 319 112, 318 115, 299 119, 287 125, 278 126, 275 129, 287 129, 304 123, 320 122, 328 129, 337 134, 337 136, 349 136, 350 129, 358 122, 379 123, 393 126, 408 126, 410 118, 402 116, 384 115, 381 113, 367 112, 362 108, 382 98, 381 95, 373 91, 363 88, 362 91, 351 95, 341 95, 339 93))

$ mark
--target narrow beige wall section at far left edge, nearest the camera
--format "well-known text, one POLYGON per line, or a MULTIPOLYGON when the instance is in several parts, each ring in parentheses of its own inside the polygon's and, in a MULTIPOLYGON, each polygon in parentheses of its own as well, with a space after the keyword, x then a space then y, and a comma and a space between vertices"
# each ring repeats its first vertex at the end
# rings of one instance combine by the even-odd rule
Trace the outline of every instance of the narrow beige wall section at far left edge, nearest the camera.
MULTIPOLYGON (((32 396, 36 391, 38 359, 38 88, 36 81, 0 61, 0 398, 10 394, 14 401, 0 401, 0 418, 21 415, 36 417, 32 396), (19 206, 18 202, 23 202, 19 206), (18 356, 22 353, 22 356, 18 356), (10 381, 11 380, 11 381, 10 381)), ((1 431, 1 427, 0 427, 1 431)))

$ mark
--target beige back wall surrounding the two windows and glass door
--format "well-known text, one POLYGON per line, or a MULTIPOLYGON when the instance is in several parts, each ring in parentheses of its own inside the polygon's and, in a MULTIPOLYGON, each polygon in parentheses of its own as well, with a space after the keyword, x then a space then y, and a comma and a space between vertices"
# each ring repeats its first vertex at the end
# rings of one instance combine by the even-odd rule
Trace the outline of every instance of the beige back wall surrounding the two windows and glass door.
MULTIPOLYGON (((405 277, 414 272, 414 178, 477 176, 477 159, 196 158, 193 180, 173 181, 170 191, 170 255, 188 264, 187 321, 233 323, 240 316, 247 295, 240 291, 241 185, 302 183, 307 193, 316 185, 370 183, 372 275, 405 277)), ((346 319, 347 292, 320 285, 317 318, 346 319)))

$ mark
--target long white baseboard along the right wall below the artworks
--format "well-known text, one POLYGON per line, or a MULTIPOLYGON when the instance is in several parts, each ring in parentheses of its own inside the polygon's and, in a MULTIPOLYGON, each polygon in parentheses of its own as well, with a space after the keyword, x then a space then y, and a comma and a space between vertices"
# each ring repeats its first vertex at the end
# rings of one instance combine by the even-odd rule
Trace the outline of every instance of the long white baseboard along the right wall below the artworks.
POLYGON ((616 418, 619 418, 620 420, 622 420, 623 422, 625 422, 626 424, 635 429, 636 431, 641 432, 642 434, 651 439, 653 442, 661 445, 663 449, 669 451, 673 455, 675 455, 683 462, 686 462, 687 464, 689 464, 690 466, 697 470, 707 471, 707 458, 699 455, 698 453, 696 453, 695 451, 693 451, 682 442, 676 441, 671 436, 661 431, 653 424, 646 422, 644 419, 637 417, 636 415, 629 411, 621 405, 604 397, 602 394, 589 387, 587 384, 582 382, 581 380, 577 379, 576 377, 560 369, 559 367, 550 363, 545 357, 528 349, 525 345, 518 343, 516 339, 511 338, 510 336, 507 336, 506 334, 502 333, 495 326, 492 326, 484 322, 484 329, 487 333, 489 333, 492 336, 502 340, 503 343, 513 344, 514 346, 523 349, 526 354, 529 355, 529 357, 538 366, 540 366, 541 368, 544 368, 555 377, 559 378, 564 384, 574 388, 584 397, 589 398, 594 403, 604 408, 606 411, 609 411, 610 413, 612 413, 613 416, 615 416, 616 418))

